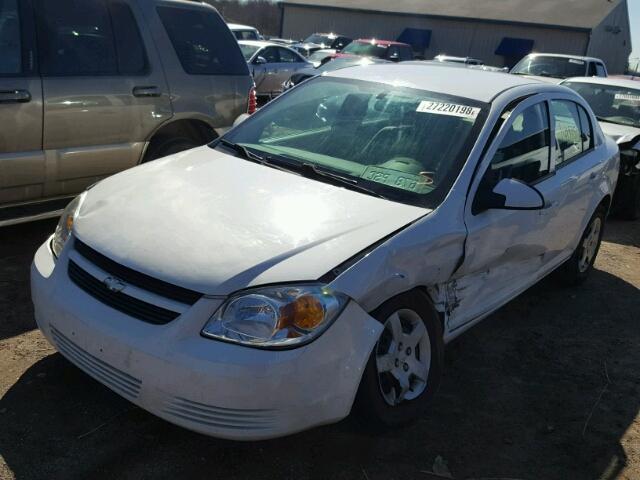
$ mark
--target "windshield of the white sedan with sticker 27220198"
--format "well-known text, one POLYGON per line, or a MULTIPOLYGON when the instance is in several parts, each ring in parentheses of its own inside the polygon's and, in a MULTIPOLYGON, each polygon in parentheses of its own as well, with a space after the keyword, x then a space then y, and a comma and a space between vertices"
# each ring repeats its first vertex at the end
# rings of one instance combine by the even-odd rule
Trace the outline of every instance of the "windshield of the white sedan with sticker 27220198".
POLYGON ((433 208, 466 161, 486 108, 423 90, 316 77, 223 139, 263 158, 322 168, 360 189, 433 208))

